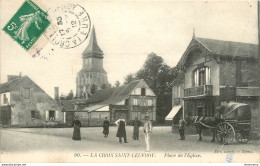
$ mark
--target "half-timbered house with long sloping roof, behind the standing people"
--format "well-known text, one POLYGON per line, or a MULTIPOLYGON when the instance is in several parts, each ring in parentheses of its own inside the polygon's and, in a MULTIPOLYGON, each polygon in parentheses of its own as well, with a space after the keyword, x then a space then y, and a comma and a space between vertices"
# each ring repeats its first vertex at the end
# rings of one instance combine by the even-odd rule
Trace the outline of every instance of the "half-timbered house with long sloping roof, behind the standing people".
POLYGON ((144 80, 99 90, 87 100, 86 105, 75 113, 85 126, 102 125, 105 117, 115 122, 123 116, 127 123, 135 117, 144 120, 146 115, 156 120, 156 96, 144 80))

